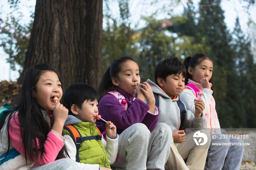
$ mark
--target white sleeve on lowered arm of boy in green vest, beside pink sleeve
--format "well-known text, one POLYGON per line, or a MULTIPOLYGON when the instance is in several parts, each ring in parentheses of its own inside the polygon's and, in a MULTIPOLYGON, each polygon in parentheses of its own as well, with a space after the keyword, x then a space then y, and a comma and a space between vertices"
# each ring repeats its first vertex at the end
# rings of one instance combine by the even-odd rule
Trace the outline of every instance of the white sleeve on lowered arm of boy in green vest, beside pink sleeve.
MULTIPOLYGON (((71 138, 71 136, 69 135, 64 135, 65 140, 65 146, 67 148, 68 151, 68 155, 71 159, 73 159, 74 161, 76 161, 76 145, 73 141, 73 139, 71 138)), ((99 165, 98 164, 85 164, 85 163, 79 163, 77 162, 80 170, 99 170, 99 165)))

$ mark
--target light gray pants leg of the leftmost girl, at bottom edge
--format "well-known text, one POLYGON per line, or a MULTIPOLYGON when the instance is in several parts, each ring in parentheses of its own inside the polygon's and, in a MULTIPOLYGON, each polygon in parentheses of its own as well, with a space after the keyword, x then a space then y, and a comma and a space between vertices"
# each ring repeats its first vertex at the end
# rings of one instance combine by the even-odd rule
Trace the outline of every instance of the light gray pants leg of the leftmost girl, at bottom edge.
POLYGON ((78 163, 70 158, 63 158, 45 165, 32 166, 29 170, 74 170, 79 169, 78 163))

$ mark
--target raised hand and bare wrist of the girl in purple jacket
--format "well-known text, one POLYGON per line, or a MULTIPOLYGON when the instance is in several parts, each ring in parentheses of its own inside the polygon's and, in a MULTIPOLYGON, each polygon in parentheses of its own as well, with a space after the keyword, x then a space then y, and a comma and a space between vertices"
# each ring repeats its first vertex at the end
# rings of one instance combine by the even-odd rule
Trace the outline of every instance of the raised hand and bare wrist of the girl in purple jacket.
POLYGON ((143 82, 143 84, 141 84, 140 90, 144 93, 145 98, 147 99, 147 104, 150 108, 149 112, 154 113, 155 112, 155 97, 154 97, 152 88, 150 87, 148 82, 143 82))

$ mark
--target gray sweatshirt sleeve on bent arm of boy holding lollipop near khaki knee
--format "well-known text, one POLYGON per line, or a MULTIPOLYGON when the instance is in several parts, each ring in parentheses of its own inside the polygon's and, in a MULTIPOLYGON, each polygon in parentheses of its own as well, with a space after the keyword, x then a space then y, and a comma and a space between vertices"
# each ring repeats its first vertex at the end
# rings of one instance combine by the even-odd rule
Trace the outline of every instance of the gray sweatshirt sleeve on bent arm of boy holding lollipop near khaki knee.
MULTIPOLYGON (((186 105, 185 105, 185 108, 186 108, 186 105)), ((192 128, 193 131, 197 129, 206 129, 207 127, 206 116, 203 114, 202 117, 196 117, 193 112, 189 111, 186 108, 186 116, 183 122, 183 126, 186 128, 192 128)))

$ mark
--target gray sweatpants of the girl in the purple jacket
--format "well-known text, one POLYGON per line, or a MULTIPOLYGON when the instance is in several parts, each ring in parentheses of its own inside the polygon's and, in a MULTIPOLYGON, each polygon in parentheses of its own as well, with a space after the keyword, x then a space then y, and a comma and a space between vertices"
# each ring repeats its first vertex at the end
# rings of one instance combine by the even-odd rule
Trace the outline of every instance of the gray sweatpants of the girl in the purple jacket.
POLYGON ((127 170, 164 170, 169 156, 172 130, 159 123, 150 132, 146 125, 136 123, 124 130, 118 139, 117 161, 111 167, 126 167, 127 170))

